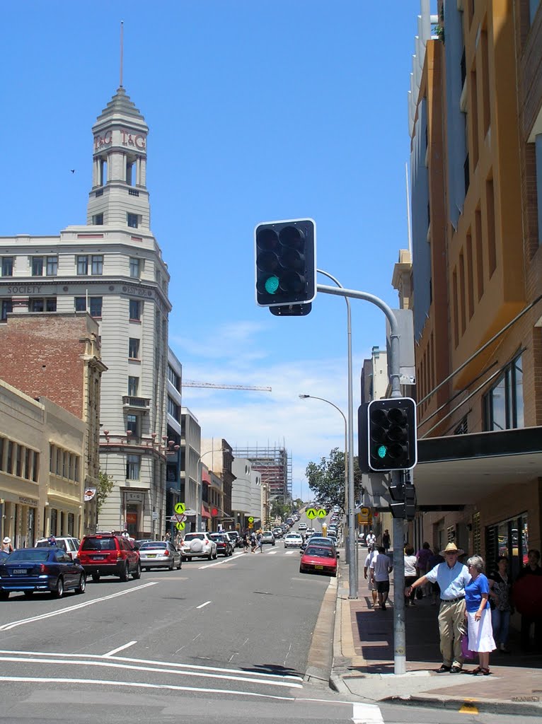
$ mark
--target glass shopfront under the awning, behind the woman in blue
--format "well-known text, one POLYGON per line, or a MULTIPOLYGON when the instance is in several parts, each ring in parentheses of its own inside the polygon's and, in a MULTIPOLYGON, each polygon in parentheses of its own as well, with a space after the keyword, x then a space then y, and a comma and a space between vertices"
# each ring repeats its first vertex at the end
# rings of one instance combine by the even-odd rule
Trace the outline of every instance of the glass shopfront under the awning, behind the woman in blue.
POLYGON ((488 526, 485 529, 486 571, 491 572, 501 555, 508 556, 512 579, 527 564, 529 550, 529 528, 527 513, 488 526))

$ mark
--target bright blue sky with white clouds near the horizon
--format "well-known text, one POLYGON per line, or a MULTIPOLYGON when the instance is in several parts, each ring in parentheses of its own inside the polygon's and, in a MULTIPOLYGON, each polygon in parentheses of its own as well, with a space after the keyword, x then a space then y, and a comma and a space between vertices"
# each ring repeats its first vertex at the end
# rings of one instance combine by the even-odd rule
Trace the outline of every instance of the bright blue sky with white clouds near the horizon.
MULTIPOLYGON (((49 0, 5 4, 0 235, 86 223, 91 126, 119 85, 149 125, 151 229, 172 277, 170 345, 204 437, 285 445, 293 493, 343 447, 346 305, 282 319, 254 300, 254 226, 311 216, 317 264, 396 307, 407 248, 407 90, 420 0, 49 0), (75 169, 75 174, 70 173, 75 169)), ((321 284, 328 284, 324 277, 321 284)), ((354 408, 385 319, 352 302, 354 408)), ((357 445, 354 442, 354 445, 357 445)))

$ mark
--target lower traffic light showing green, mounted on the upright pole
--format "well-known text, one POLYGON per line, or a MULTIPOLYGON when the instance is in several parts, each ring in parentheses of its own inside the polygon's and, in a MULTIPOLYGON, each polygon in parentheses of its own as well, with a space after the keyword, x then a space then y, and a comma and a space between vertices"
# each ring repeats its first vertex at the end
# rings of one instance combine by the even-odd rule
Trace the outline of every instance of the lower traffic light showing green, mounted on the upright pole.
POLYGON ((371 470, 410 470, 416 465, 416 403, 411 397, 369 403, 367 445, 371 470))

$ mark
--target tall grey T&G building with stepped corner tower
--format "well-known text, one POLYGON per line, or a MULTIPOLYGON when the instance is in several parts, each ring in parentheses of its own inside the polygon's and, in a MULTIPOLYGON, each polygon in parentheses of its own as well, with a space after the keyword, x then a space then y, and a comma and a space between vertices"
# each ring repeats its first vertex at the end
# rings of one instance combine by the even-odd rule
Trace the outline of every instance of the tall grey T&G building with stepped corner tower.
POLYGON ((150 228, 149 132, 118 88, 92 128, 87 224, 57 237, 0 238, 0 302, 11 311, 88 311, 99 326, 101 471, 114 482, 99 518, 134 536, 165 531, 170 275, 150 228))

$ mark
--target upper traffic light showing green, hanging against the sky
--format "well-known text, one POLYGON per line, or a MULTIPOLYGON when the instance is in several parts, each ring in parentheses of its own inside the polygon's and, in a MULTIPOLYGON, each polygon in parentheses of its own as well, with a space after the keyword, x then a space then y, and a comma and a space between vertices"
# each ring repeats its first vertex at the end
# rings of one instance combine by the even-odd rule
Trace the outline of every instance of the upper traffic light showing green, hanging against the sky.
POLYGON ((307 314, 307 303, 316 296, 315 222, 289 219, 258 224, 254 246, 257 304, 291 305, 290 316, 307 314))

